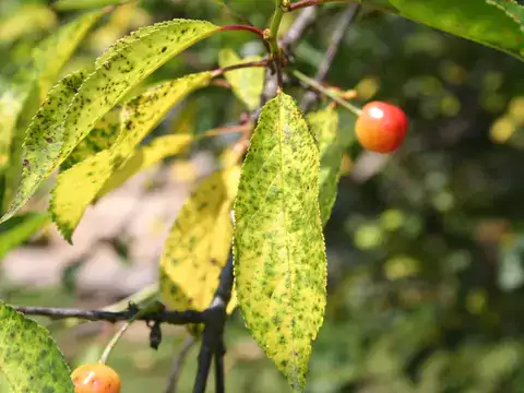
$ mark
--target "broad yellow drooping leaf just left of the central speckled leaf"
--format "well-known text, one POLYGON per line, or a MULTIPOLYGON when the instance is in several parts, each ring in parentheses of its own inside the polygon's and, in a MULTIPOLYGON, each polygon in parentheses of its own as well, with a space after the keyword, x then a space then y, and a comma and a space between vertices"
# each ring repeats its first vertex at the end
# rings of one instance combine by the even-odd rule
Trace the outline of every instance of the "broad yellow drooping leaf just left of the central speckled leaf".
MULTIPOLYGON (((207 177, 182 206, 160 259, 160 291, 175 309, 204 310, 231 248, 233 201, 240 167, 207 177)), ((228 310, 236 301, 231 299, 228 310)))

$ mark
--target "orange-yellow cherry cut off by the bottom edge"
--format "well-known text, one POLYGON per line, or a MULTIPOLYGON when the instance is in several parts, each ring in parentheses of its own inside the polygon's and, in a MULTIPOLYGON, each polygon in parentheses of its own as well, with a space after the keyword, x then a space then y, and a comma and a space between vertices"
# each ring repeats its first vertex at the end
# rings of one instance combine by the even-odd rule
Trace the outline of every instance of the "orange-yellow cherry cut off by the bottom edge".
POLYGON ((120 393, 120 377, 106 365, 82 365, 71 379, 76 393, 120 393))

